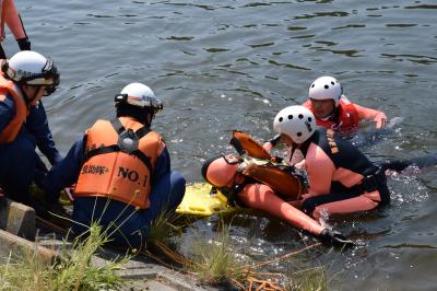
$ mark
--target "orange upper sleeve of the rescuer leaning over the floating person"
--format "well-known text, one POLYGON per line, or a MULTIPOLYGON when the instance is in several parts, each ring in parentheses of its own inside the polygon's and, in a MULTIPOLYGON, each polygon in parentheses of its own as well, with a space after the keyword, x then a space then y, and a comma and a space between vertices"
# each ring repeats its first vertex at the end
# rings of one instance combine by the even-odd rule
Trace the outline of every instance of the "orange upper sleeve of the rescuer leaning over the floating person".
POLYGON ((309 177, 308 196, 329 194, 335 166, 331 159, 316 144, 310 144, 305 156, 305 168, 309 177))

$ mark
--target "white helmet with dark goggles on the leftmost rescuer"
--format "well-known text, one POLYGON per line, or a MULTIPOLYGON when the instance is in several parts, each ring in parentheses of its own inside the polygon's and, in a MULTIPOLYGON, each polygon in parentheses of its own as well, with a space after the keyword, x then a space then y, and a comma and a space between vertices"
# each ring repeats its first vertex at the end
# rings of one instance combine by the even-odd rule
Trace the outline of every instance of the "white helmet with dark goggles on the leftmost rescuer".
POLYGON ((51 58, 23 50, 11 59, 4 60, 1 66, 4 77, 20 85, 46 85, 46 93, 55 92, 59 84, 59 73, 51 58))

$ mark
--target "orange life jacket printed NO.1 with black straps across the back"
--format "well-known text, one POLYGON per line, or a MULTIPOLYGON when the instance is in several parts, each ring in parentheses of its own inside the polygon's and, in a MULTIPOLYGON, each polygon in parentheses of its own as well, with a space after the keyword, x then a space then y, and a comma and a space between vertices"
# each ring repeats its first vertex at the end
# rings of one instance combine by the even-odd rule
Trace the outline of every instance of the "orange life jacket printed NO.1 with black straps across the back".
POLYGON ((85 162, 74 196, 108 197, 141 209, 149 208, 161 136, 130 120, 127 128, 115 119, 97 120, 88 129, 85 162))

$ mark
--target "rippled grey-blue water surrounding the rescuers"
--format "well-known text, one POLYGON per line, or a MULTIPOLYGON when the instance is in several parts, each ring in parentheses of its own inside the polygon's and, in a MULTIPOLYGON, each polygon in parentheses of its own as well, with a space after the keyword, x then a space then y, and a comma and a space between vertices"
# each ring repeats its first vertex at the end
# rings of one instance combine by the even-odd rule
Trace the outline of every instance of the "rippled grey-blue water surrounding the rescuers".
MULTIPOLYGON (((63 153, 96 118, 114 115, 113 97, 125 84, 141 81, 164 101, 154 126, 168 143, 173 166, 199 181, 204 158, 232 151, 232 129, 270 138, 275 114, 304 102, 322 74, 336 77, 356 103, 404 118, 393 135, 363 148, 373 159, 436 151, 435 1, 16 4, 33 48, 54 57, 61 71, 61 89, 45 103, 63 153)), ((16 50, 11 37, 5 50, 16 50)), ((345 253, 318 248, 271 269, 326 265, 332 289, 434 290, 436 178, 436 171, 391 176, 390 207, 331 222, 365 246, 345 253)), ((293 228, 275 220, 241 214, 233 224, 241 256, 264 260, 305 246, 293 228)), ((216 218, 194 225, 209 237, 216 218)))

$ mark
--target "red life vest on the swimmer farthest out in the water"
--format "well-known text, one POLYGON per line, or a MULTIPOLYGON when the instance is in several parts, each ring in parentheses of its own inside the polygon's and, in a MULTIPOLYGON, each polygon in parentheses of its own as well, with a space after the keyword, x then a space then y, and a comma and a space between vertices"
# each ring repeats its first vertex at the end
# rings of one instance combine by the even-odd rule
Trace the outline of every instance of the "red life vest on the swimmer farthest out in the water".
MULTIPOLYGON (((308 100, 303 105, 314 113, 311 101, 308 100)), ((344 98, 340 98, 333 120, 331 118, 322 120, 316 117, 316 125, 342 132, 355 129, 358 126, 358 123, 359 116, 357 109, 352 102, 344 98)))

